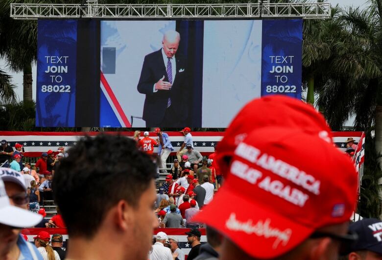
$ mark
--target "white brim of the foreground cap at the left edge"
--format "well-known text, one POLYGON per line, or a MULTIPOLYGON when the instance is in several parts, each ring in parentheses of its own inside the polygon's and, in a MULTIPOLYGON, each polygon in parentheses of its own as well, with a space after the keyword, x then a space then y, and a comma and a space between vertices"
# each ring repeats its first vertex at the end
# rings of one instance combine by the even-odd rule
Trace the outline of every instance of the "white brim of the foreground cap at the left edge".
POLYGON ((33 213, 23 208, 15 206, 5 206, 0 208, 0 223, 16 227, 16 228, 29 228, 37 225, 43 219, 43 216, 33 213))

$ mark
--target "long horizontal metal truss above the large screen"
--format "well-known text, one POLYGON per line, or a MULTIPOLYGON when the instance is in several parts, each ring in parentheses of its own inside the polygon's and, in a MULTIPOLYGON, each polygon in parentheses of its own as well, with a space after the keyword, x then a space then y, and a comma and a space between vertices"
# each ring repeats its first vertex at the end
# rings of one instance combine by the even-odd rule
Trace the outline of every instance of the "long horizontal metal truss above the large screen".
POLYGON ((329 19, 331 4, 314 3, 239 3, 239 4, 85 4, 12 3, 14 19, 329 19))

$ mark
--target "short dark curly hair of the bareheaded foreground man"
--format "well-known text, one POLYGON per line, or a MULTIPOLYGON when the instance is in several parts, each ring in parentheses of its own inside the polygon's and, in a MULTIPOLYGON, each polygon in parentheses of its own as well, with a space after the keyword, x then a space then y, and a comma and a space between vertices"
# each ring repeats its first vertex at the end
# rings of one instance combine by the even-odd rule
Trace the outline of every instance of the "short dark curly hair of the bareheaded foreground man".
POLYGON ((137 207, 156 174, 150 156, 119 135, 84 137, 53 178, 54 199, 71 236, 91 238, 120 200, 137 207))

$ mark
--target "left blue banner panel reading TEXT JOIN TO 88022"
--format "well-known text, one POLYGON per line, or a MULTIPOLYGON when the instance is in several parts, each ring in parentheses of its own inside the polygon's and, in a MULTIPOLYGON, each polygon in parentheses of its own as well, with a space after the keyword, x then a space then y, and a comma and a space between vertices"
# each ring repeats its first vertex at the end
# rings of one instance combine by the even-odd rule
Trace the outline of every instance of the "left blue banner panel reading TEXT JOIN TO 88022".
POLYGON ((77 21, 38 21, 36 127, 74 127, 77 21))

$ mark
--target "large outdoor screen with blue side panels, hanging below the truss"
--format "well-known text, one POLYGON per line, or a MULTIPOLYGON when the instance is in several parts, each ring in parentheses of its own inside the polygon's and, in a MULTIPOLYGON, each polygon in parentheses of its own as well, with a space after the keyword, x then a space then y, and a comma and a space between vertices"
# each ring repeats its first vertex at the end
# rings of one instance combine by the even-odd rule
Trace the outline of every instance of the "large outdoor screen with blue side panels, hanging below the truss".
POLYGON ((302 20, 98 21, 93 75, 86 69, 79 73, 78 62, 84 61, 78 57, 77 64, 55 71, 46 56, 69 56, 70 62, 89 50, 78 48, 81 39, 74 37, 77 52, 58 46, 49 53, 44 46, 50 36, 41 30, 47 22, 39 21, 37 126, 79 126, 90 109, 77 108, 88 102, 96 104, 92 126, 225 128, 253 98, 301 99, 302 20), (91 86, 96 94, 79 83, 84 77, 100 78, 91 86), (75 111, 50 107, 47 100, 69 96, 67 85, 88 93, 85 100, 72 97, 75 111))

